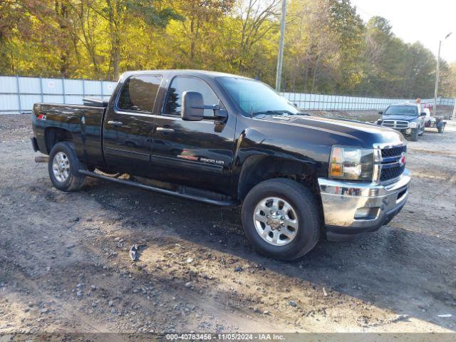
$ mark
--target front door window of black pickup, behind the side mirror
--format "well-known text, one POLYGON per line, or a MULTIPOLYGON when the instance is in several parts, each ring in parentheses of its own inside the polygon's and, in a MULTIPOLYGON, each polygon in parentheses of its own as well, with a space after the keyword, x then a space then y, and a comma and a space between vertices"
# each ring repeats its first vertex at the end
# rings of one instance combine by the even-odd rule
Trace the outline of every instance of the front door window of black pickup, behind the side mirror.
MULTIPOLYGON (((182 93, 185 91, 197 91, 202 94, 204 105, 217 105, 219 98, 214 91, 202 81, 201 78, 192 76, 176 76, 172 79, 168 90, 164 113, 170 115, 180 115, 182 109, 182 93)), ((204 116, 213 116, 214 110, 204 109, 204 116)))

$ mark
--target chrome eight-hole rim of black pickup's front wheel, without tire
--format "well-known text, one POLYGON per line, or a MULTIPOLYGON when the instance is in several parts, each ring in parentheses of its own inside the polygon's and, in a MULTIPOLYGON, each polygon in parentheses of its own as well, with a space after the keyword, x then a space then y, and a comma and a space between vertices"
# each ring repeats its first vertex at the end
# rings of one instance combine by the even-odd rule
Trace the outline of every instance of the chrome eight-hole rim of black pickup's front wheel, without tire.
POLYGON ((254 223, 261 239, 274 246, 289 244, 298 232, 296 211, 280 197, 261 199, 254 210, 254 223))

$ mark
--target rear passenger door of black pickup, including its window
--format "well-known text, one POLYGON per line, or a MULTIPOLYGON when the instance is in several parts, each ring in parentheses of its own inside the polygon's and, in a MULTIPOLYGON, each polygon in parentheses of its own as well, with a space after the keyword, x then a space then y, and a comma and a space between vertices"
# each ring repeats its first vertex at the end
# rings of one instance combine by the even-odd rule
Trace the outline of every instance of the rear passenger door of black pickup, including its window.
POLYGON ((150 173, 152 117, 160 75, 128 77, 103 121, 103 151, 108 167, 133 175, 150 173))

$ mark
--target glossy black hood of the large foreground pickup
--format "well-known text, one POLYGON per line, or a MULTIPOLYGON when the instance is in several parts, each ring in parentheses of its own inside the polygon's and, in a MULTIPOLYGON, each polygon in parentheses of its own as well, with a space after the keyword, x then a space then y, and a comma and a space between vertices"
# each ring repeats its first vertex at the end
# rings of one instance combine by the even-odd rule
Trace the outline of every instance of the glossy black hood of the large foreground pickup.
MULTIPOLYGON (((403 135, 391 128, 356 120, 319 118, 304 115, 261 115, 261 120, 295 128, 314 130, 323 138, 329 138, 333 144, 346 144, 371 148, 376 144, 399 144, 404 142, 403 135)), ((303 135, 305 131, 303 130, 303 135)))

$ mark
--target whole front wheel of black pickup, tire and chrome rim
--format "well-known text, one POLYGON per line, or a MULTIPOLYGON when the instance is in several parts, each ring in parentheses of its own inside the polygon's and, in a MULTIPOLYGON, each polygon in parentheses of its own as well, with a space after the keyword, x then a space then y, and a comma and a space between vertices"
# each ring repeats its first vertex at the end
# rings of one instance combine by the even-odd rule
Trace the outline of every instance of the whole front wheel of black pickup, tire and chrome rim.
POLYGON ((255 249, 267 257, 293 260, 313 249, 321 234, 314 195, 294 180, 256 185, 242 204, 242 225, 255 249))

